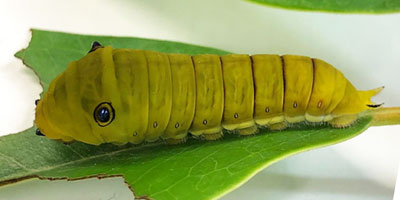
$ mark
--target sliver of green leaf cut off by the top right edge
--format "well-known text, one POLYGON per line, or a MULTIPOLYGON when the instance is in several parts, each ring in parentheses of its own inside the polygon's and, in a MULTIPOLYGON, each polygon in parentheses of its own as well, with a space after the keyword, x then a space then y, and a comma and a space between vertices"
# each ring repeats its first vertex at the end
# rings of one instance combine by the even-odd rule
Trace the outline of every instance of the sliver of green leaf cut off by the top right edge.
POLYGON ((340 13, 400 12, 399 0, 247 0, 255 3, 296 10, 340 13))

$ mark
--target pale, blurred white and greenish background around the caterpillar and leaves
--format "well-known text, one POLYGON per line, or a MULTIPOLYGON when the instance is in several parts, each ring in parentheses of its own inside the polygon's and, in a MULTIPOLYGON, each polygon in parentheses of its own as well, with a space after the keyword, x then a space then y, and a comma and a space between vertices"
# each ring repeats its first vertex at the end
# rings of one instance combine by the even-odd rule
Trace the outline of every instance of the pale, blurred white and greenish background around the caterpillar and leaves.
MULTIPOLYGON (((0 0, 0 27, 3 135, 32 126, 42 91, 34 73, 13 57, 28 45, 30 28, 307 55, 333 64, 359 89, 385 85, 374 100, 400 106, 400 14, 302 12, 242 0, 0 0)), ((347 142, 280 161, 222 199, 392 199, 399 161, 400 126, 372 127, 347 142)), ((123 184, 118 178, 28 181, 1 187, 0 199, 132 198, 123 184)))

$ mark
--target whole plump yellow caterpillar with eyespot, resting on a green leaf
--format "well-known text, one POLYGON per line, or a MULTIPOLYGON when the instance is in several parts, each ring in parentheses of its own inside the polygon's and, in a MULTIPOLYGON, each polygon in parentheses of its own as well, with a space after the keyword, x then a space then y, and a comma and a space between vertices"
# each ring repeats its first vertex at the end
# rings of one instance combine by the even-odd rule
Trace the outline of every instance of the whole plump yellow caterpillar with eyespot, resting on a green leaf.
POLYGON ((185 55, 94 42, 37 101, 36 134, 64 142, 139 144, 255 134, 302 121, 350 126, 377 109, 330 64, 297 55, 185 55))

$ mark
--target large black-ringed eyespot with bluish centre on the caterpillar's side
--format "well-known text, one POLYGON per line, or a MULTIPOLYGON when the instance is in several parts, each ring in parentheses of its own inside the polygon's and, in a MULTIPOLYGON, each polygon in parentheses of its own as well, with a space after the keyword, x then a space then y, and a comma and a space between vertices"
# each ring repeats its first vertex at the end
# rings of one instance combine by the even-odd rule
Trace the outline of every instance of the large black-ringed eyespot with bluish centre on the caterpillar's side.
POLYGON ((114 120, 115 110, 111 103, 103 102, 94 109, 93 117, 99 126, 104 127, 109 125, 114 120))

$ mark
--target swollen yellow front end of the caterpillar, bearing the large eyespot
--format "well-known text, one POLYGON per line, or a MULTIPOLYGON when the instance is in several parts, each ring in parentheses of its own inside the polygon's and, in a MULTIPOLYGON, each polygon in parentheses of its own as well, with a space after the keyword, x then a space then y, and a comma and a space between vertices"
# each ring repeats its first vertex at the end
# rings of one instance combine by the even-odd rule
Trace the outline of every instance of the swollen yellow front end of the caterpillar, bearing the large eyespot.
POLYGON ((93 43, 89 53, 71 62, 37 102, 37 134, 51 139, 101 144, 126 141, 118 120, 120 97, 112 48, 93 43))

